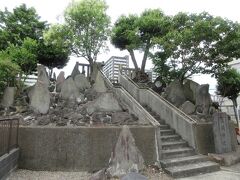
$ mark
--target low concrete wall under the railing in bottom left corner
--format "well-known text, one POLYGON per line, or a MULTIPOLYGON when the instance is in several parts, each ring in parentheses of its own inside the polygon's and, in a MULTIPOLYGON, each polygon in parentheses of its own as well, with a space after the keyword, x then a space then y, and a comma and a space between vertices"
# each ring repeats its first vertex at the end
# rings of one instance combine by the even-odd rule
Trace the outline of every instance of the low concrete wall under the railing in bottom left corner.
POLYGON ((0 179, 7 179, 11 171, 17 168, 19 149, 15 148, 0 157, 0 179))

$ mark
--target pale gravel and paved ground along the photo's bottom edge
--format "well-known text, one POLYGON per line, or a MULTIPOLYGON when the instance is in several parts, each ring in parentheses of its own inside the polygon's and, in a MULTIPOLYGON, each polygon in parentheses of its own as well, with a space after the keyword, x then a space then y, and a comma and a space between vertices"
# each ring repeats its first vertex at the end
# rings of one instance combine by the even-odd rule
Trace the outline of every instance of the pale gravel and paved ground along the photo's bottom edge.
MULTIPOLYGON (((165 173, 151 173, 146 175, 149 180, 172 180, 165 173)), ((88 180, 91 174, 87 172, 49 172, 49 171, 29 171, 18 169, 10 174, 7 180, 88 180)), ((202 174, 178 180, 240 180, 240 163, 230 166, 221 167, 218 172, 202 174)))

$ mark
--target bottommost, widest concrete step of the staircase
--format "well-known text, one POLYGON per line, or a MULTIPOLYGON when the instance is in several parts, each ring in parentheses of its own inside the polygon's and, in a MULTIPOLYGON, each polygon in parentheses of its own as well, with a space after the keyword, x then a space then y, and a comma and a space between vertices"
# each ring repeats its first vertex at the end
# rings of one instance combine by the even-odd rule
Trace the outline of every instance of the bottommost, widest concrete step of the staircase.
POLYGON ((164 170, 174 178, 180 178, 180 177, 193 176, 200 173, 210 173, 213 171, 217 171, 219 169, 220 167, 217 163, 206 161, 206 162, 199 162, 196 164, 188 164, 184 166, 169 167, 169 168, 165 168, 164 170))

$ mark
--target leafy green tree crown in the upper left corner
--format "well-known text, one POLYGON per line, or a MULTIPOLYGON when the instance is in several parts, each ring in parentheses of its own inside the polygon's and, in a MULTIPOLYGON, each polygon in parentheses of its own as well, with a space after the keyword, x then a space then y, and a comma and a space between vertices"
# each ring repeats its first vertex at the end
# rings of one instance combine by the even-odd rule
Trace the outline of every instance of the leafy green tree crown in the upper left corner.
POLYGON ((25 38, 39 40, 42 38, 46 22, 40 21, 34 8, 25 4, 13 9, 13 12, 0 11, 0 50, 10 44, 21 45, 25 38))

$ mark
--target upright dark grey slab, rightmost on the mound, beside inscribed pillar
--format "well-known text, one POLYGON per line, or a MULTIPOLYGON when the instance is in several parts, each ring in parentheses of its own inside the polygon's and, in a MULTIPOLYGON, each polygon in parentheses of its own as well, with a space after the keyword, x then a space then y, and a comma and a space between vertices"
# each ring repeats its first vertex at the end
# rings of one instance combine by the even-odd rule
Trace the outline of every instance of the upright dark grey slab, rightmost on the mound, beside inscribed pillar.
POLYGON ((196 93, 196 111, 200 115, 209 115, 209 109, 212 105, 211 95, 208 92, 209 84, 200 85, 196 93))

